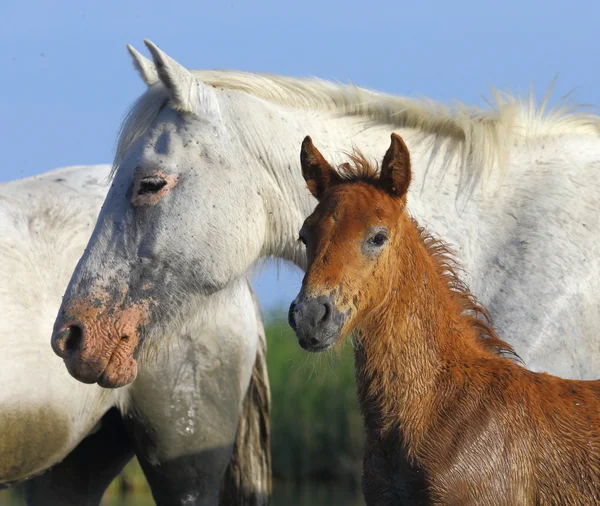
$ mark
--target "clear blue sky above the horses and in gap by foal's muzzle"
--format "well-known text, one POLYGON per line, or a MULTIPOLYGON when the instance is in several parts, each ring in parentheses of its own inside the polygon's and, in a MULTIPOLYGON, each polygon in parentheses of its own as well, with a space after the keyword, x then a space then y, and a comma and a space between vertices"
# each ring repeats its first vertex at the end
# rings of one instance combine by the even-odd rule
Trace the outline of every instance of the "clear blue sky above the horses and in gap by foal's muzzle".
MULTIPOLYGON (((190 68, 348 80, 392 93, 482 104, 490 85, 575 90, 600 105, 600 2, 3 0, 0 181, 110 163, 144 91, 125 44, 149 38, 190 68)), ((261 269, 266 308, 299 274, 261 269)))

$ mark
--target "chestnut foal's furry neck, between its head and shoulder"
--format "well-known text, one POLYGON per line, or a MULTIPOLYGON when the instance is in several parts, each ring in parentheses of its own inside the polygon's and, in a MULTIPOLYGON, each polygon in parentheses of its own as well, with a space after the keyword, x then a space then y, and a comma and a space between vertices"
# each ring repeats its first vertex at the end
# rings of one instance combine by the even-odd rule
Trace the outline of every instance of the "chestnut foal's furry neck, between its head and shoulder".
MULTIPOLYGON (((368 431, 401 437, 418 453, 451 404, 448 382, 466 385, 470 360, 496 357, 478 342, 447 275, 404 215, 407 234, 385 300, 358 327, 355 352, 359 401, 368 431)), ((461 388, 462 388, 461 387, 461 388)))

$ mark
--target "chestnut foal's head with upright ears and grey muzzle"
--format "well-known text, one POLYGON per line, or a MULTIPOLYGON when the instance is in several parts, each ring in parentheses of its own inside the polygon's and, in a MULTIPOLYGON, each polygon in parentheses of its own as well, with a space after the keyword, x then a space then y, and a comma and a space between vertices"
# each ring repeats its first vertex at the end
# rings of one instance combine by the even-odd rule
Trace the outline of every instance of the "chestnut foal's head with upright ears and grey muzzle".
POLYGON ((306 137, 300 160, 319 204, 300 230, 308 270, 289 322, 300 346, 322 351, 354 330, 389 292, 397 247, 410 224, 410 156, 392 134, 379 174, 358 153, 337 172, 306 137))

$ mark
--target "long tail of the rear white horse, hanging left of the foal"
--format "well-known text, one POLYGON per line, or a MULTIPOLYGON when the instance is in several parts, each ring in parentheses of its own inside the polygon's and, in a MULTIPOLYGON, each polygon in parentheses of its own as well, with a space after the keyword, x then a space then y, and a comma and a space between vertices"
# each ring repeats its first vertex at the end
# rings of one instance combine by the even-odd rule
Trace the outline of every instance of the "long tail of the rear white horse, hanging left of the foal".
POLYGON ((233 453, 221 483, 220 504, 267 506, 271 497, 271 390, 267 340, 254 299, 259 339, 248 391, 244 397, 233 453))

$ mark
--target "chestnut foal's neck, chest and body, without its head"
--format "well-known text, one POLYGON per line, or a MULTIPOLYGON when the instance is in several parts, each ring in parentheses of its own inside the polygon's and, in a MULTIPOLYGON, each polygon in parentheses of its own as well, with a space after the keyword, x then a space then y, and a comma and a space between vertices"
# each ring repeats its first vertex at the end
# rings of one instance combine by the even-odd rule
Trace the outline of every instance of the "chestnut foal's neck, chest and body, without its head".
POLYGON ((600 504, 600 382, 490 349, 407 229, 415 268, 390 279, 398 294, 360 325, 355 351, 368 504, 600 504))

